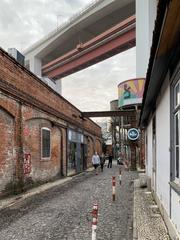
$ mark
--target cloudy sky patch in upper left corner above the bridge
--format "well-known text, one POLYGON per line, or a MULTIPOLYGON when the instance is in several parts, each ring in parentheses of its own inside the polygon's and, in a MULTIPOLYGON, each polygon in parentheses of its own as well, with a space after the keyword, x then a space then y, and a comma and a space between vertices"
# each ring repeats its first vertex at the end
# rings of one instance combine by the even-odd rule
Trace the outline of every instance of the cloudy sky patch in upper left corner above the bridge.
POLYGON ((89 2, 91 0, 1 0, 0 46, 22 51, 89 2))

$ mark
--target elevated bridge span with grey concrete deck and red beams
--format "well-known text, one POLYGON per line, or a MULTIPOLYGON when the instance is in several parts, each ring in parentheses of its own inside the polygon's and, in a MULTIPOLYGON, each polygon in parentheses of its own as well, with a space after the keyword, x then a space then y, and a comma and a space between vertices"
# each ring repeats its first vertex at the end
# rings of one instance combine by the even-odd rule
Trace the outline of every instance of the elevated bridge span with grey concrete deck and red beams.
POLYGON ((135 45, 135 0, 96 0, 28 48, 26 65, 56 80, 135 45))

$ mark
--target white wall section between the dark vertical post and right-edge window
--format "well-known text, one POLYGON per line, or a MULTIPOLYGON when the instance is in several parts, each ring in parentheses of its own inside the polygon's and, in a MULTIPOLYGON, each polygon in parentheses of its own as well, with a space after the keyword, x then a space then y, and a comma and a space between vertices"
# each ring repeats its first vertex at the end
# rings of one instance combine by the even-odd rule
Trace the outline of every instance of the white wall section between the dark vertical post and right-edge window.
POLYGON ((169 215, 170 87, 162 89, 156 106, 156 195, 169 215))

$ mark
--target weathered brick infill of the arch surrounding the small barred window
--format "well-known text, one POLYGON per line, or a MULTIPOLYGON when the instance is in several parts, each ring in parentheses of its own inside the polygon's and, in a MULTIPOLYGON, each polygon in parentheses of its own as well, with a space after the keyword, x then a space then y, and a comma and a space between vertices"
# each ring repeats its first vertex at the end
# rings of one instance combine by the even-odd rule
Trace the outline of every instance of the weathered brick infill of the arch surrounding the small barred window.
POLYGON ((33 180, 45 180, 60 174, 61 169, 61 134, 51 122, 44 119, 32 119, 24 124, 24 153, 31 154, 32 170, 28 177, 33 180), (51 157, 41 156, 41 128, 51 130, 51 157))

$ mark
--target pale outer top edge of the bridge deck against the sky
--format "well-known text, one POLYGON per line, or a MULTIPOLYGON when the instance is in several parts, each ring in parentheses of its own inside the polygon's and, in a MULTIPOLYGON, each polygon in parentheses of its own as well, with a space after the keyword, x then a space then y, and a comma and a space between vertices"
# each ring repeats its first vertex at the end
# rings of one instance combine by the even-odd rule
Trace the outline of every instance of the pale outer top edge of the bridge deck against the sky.
POLYGON ((77 21, 83 14, 90 12, 93 8, 95 8, 98 4, 101 2, 104 2, 105 0, 93 0, 88 5, 86 5, 84 8, 81 9, 81 11, 74 14, 72 17, 70 17, 67 21, 63 22, 59 27, 57 27, 55 30, 51 31, 49 34, 41 38, 39 41, 32 44, 29 48, 27 48, 24 51, 24 54, 27 54, 28 52, 34 50, 36 47, 41 45, 42 43, 46 42, 48 39, 54 37, 57 35, 57 33, 61 33, 62 30, 69 27, 73 22, 77 21))

